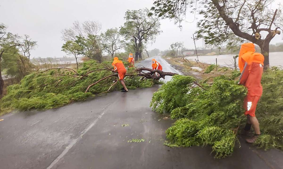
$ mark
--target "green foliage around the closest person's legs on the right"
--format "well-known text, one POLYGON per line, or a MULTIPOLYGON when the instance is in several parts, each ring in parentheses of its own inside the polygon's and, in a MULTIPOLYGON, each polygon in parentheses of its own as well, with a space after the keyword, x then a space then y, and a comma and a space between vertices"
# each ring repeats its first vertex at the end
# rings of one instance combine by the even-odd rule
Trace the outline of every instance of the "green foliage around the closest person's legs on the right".
MULTIPOLYGON (((234 81, 238 75, 234 71, 231 77, 216 77, 212 84, 175 75, 162 85, 153 94, 151 107, 178 119, 166 131, 168 145, 211 146, 215 158, 231 155, 237 131, 246 123, 242 108, 246 88, 234 81)), ((256 141, 259 148, 283 148, 282 84, 283 70, 273 68, 263 74, 263 96, 256 111, 263 133, 256 141)))

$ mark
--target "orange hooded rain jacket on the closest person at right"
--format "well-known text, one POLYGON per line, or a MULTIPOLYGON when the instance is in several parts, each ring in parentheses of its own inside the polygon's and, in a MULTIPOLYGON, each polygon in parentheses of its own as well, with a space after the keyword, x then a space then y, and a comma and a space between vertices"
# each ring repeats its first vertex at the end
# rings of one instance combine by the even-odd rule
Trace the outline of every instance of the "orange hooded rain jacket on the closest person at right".
POLYGON ((248 89, 248 96, 261 96, 261 76, 263 73, 264 57, 260 53, 255 53, 254 44, 242 44, 239 53, 239 68, 241 77, 239 84, 243 84, 248 89))

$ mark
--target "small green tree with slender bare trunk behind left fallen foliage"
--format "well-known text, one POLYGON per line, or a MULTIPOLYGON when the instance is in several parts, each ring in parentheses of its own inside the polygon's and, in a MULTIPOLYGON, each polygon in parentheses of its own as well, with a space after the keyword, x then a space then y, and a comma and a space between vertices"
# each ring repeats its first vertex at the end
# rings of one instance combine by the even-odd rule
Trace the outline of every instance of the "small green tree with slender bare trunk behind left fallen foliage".
POLYGON ((68 55, 74 55, 78 69, 78 56, 80 55, 80 51, 82 51, 82 47, 76 42, 68 40, 65 44, 63 44, 62 51, 66 52, 68 55))

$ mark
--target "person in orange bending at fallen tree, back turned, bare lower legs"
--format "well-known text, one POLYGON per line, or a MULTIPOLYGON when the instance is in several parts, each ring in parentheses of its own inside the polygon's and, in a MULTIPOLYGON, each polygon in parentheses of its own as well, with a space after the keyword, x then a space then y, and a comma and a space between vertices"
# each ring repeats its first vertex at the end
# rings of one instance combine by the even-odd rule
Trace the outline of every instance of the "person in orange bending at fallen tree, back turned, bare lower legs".
POLYGON ((114 69, 112 71, 118 72, 118 77, 120 80, 120 83, 124 87, 124 89, 121 90, 121 92, 128 92, 128 89, 125 85, 124 77, 126 75, 126 68, 121 60, 119 60, 117 57, 114 57, 114 60, 112 62, 112 66, 114 69))

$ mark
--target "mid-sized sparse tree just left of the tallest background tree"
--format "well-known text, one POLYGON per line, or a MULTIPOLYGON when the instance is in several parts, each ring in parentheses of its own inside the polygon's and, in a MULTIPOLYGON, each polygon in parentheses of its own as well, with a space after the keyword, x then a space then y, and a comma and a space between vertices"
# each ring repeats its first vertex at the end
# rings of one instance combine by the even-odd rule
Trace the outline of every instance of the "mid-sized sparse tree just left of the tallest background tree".
POLYGON ((113 58, 115 51, 120 49, 121 39, 118 28, 107 29, 100 35, 103 49, 113 58))

